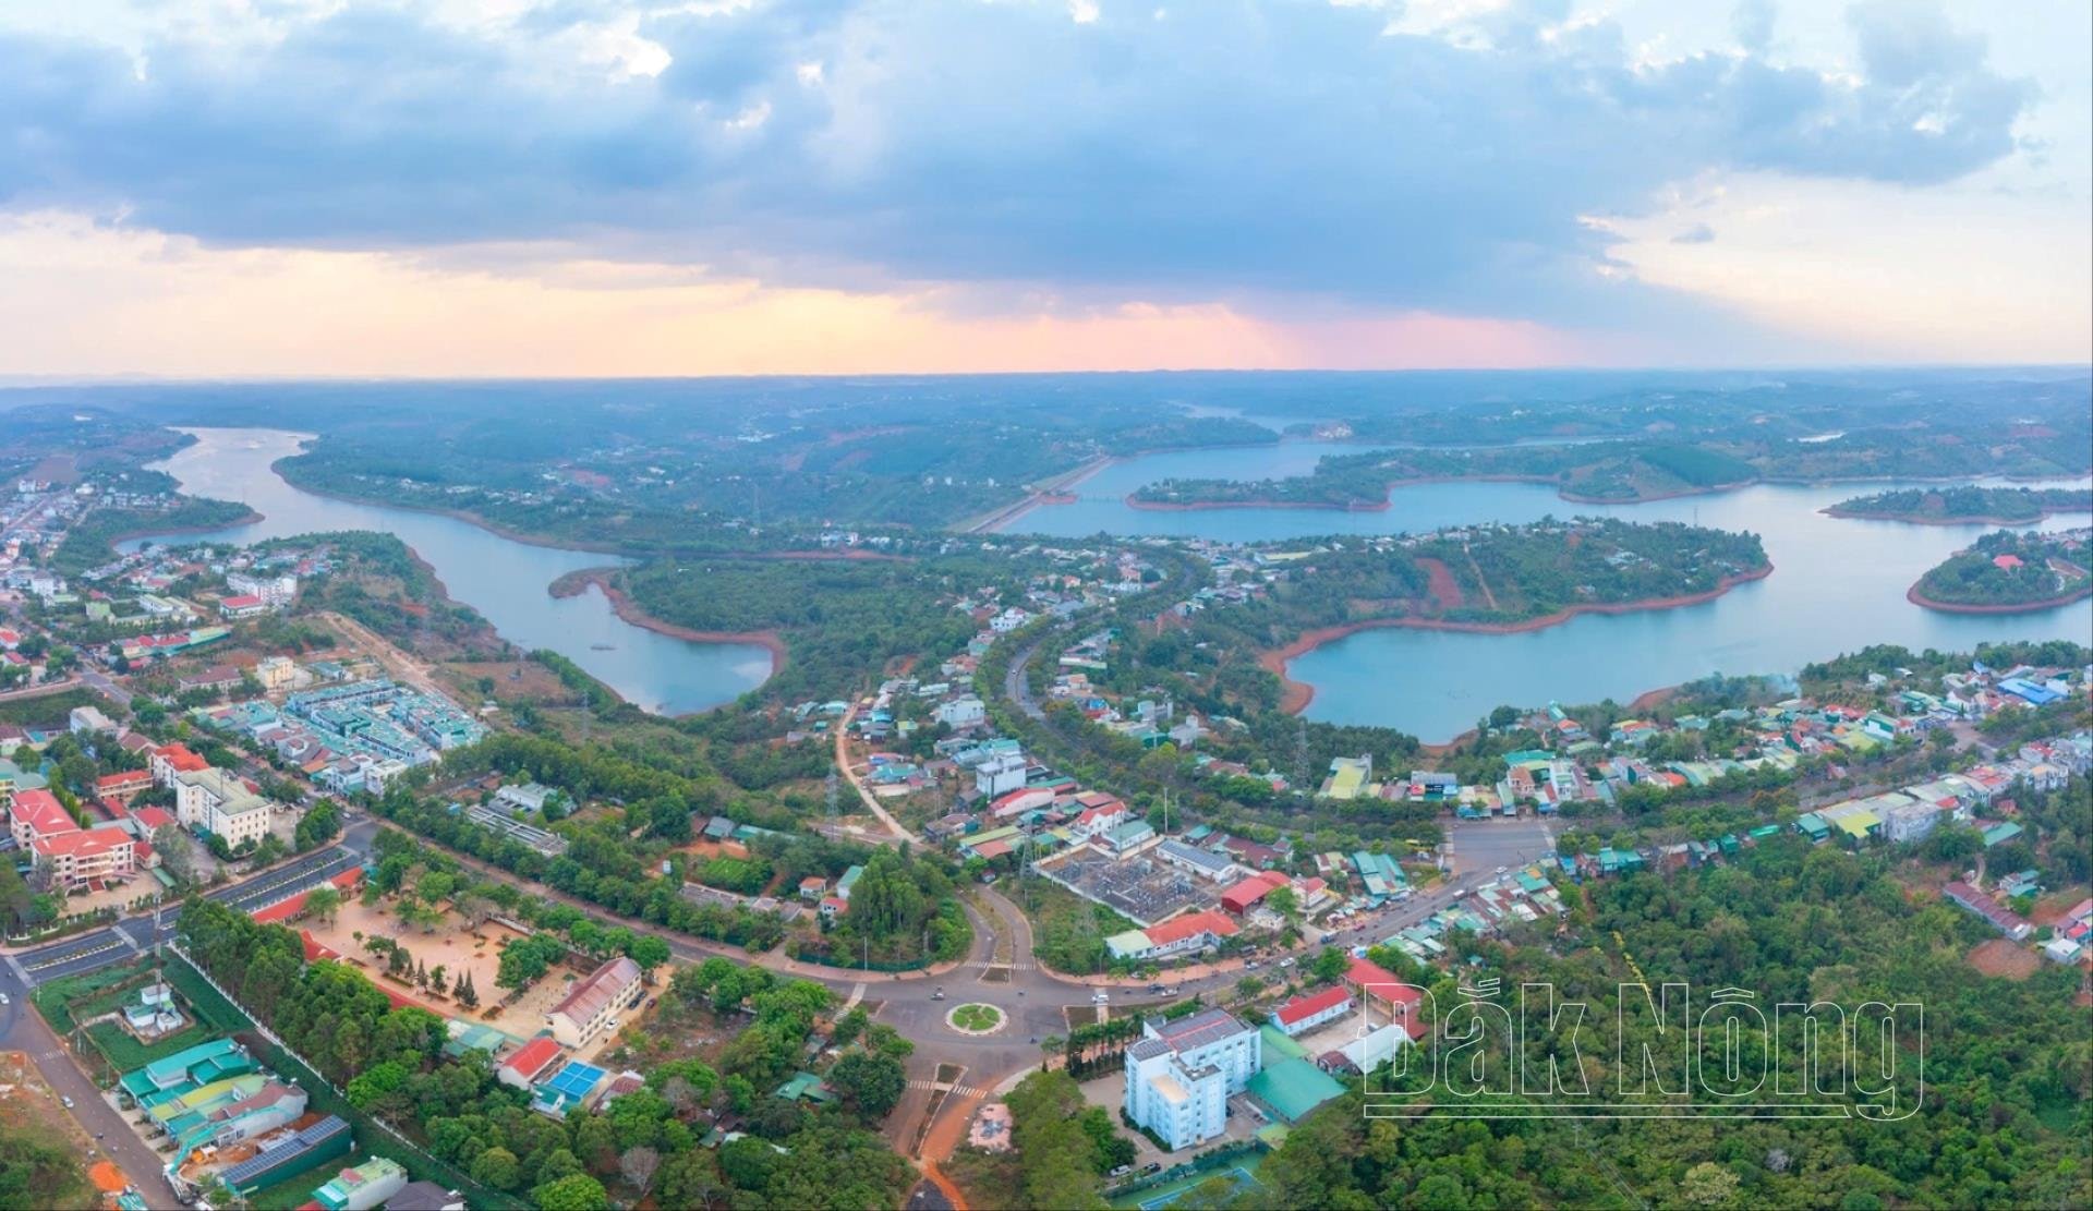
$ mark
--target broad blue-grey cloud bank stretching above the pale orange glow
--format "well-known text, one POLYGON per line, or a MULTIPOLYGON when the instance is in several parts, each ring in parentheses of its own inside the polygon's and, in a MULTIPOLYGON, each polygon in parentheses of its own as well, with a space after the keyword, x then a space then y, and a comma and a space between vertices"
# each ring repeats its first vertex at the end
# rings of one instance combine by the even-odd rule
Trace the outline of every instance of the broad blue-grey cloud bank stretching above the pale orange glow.
POLYGON ((1833 77, 1769 61, 1746 8, 1741 52, 1658 65, 1559 2, 1480 17, 1480 42, 1277 0, 343 6, 237 56, 10 36, 0 207, 222 247, 559 241, 980 305, 1658 322, 1676 303, 1589 215, 1708 172, 1934 184, 2011 153, 2032 88, 1938 13, 1854 8, 1861 73, 1833 77), (611 23, 668 67, 576 61, 573 29, 611 23))

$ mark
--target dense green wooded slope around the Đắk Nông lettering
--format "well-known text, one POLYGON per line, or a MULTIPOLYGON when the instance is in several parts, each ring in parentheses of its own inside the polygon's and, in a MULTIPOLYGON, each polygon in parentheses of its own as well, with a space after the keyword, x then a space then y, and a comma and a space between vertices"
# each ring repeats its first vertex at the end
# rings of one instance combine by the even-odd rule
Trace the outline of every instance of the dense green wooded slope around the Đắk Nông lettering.
MULTIPOLYGON (((1616 1088, 1620 983, 1687 981, 1695 1014, 1718 987, 1756 993, 1769 1019, 1779 1002, 1923 1002, 1926 1088, 1907 1119, 1369 1119, 1348 1094, 1298 1123, 1258 1182, 1275 1207, 2093 1205, 2093 1031, 2078 973, 1980 975, 1967 954, 1990 931, 1917 891, 1944 872, 1913 878, 1917 862, 1781 839, 1735 866, 1595 883, 1572 897, 1559 937, 1528 927, 1476 941, 1482 962, 1463 975, 1503 989, 1551 983, 1584 1002, 1593 1090, 1616 1088)), ((1453 981, 1434 993, 1459 1000, 1453 981)), ((1653 1037, 1630 1029, 1639 1054, 1653 1037)), ((1549 1046, 1553 1035, 1532 1033, 1540 1071, 1559 1054, 1549 1046)), ((1915 1065, 1907 1050, 1903 1073, 1915 1065)))

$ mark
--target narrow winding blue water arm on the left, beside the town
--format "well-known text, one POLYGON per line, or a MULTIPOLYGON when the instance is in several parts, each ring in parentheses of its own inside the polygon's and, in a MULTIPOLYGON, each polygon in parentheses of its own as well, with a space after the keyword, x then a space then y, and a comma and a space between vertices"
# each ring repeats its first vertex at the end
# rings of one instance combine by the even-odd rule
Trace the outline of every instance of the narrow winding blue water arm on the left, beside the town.
MULTIPOLYGON (((628 703, 663 715, 730 703, 770 676, 760 644, 699 644, 636 627, 617 617, 597 586, 571 598, 546 588, 584 567, 609 567, 617 556, 515 542, 435 512, 356 504, 299 492, 274 473, 278 458, 297 454, 308 437, 278 429, 184 429, 197 437, 157 471, 182 492, 239 500, 262 521, 193 542, 262 542, 329 529, 373 529, 398 535, 444 581, 452 600, 479 611, 519 648, 550 648, 588 669, 628 703)), ((126 544, 134 548, 136 544, 126 544)))

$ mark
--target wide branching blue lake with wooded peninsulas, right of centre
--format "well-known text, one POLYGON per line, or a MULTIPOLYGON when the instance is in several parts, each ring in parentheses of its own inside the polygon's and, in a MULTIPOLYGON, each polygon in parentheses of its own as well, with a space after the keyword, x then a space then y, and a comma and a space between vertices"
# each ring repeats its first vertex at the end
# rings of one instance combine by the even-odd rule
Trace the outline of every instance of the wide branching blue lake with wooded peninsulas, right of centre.
MULTIPOLYGON (((1540 483, 1419 483, 1396 487, 1386 512, 1214 508, 1160 512, 1124 498, 1166 477, 1262 479, 1306 475, 1323 454, 1363 445, 1287 441, 1277 448, 1185 450, 1113 462, 1080 483, 1074 504, 1019 515, 1003 529, 1049 535, 1168 533, 1287 540, 1331 533, 1427 531, 1478 521, 1610 515, 1697 521, 1756 531, 1773 575, 1723 598, 1670 611, 1580 615, 1520 634, 1373 630, 1302 655, 1287 676, 1314 686, 1310 719, 1379 724, 1440 742, 1492 707, 1549 701, 1628 701, 1706 673, 1794 673, 1867 644, 1967 650, 1986 640, 2093 640, 2093 602, 2026 615, 1949 615, 1905 600, 1928 567, 1967 546, 1984 525, 1907 525, 1825 517, 1821 510, 1884 483, 1754 485, 1647 504, 1572 504, 1540 483)), ((2085 481, 2060 481, 2078 483, 2085 481)), ((2087 525, 2060 515, 2043 529, 2087 525)))

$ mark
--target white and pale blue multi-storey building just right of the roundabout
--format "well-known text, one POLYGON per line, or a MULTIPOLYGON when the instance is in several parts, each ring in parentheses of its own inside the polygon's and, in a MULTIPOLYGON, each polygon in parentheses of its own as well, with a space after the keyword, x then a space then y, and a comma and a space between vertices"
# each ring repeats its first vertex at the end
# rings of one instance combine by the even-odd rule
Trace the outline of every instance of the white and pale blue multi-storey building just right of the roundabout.
POLYGON ((1174 1023, 1141 1023, 1126 1050, 1122 1109, 1170 1150, 1199 1146, 1226 1129, 1229 1096, 1264 1067, 1258 1029, 1210 1008, 1174 1023))

